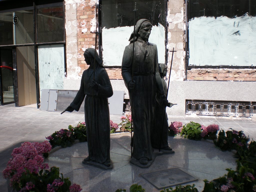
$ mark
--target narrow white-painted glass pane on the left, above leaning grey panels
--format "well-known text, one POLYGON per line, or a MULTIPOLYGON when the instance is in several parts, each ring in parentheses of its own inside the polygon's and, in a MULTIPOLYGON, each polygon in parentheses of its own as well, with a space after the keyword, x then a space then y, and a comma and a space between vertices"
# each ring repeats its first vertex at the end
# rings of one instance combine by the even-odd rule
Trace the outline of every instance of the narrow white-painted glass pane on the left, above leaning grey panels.
POLYGON ((46 45, 38 47, 39 86, 42 89, 64 89, 64 47, 46 45))

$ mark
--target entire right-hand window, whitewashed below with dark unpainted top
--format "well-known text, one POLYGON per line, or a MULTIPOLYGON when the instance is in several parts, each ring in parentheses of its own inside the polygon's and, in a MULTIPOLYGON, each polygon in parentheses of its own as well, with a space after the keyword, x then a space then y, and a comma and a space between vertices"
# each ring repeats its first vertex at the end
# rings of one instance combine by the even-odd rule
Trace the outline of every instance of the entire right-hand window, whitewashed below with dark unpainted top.
POLYGON ((189 66, 256 66, 256 1, 188 2, 189 66))

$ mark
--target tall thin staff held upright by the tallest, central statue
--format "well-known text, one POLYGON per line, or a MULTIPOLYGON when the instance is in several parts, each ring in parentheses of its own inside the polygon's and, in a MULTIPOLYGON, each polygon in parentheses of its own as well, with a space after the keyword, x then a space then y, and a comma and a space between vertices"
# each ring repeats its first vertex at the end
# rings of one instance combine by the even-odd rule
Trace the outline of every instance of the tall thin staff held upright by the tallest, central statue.
MULTIPOLYGON (((135 45, 135 20, 136 20, 136 3, 135 3, 135 7, 134 7, 134 28, 133 28, 133 49, 132 49, 132 82, 133 82, 133 69, 134 69, 134 45, 135 45)), ((131 90, 131 100, 132 100, 132 90, 131 90)), ((131 101, 132 103, 132 101, 131 101)), ((132 119, 132 104, 131 104, 131 158, 132 158, 132 147, 133 147, 133 138, 132 138, 132 124, 133 124, 133 119, 132 119)))

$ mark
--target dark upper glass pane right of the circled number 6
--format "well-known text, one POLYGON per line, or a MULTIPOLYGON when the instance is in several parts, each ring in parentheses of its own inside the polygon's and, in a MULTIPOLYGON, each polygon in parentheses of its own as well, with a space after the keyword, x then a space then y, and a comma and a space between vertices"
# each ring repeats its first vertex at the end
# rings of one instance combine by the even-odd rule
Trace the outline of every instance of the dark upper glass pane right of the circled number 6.
POLYGON ((63 6, 37 9, 37 42, 63 41, 63 6))

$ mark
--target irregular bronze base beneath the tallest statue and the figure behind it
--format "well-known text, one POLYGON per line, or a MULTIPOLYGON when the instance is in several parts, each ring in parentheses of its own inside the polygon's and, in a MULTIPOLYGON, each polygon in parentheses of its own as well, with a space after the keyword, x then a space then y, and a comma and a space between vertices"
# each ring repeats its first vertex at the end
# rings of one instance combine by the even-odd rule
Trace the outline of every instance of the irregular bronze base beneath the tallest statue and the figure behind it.
POLYGON ((159 152, 159 149, 154 149, 153 155, 152 155, 152 160, 148 161, 146 165, 142 165, 137 159, 131 158, 130 163, 141 168, 148 168, 152 165, 152 163, 155 161, 155 158, 160 155, 166 155, 166 154, 173 154, 175 153, 173 150, 164 150, 161 149, 159 152))

